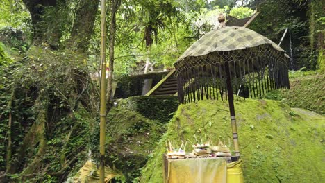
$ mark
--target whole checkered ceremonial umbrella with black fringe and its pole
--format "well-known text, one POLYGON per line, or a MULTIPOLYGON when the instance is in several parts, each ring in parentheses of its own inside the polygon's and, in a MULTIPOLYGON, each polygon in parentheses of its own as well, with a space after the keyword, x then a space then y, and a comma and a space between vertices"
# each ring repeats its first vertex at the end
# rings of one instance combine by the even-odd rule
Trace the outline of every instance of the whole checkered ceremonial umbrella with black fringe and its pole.
POLYGON ((236 155, 240 153, 234 94, 240 100, 279 87, 289 88, 285 51, 267 37, 243 27, 211 30, 194 42, 174 66, 181 103, 228 98, 236 155))

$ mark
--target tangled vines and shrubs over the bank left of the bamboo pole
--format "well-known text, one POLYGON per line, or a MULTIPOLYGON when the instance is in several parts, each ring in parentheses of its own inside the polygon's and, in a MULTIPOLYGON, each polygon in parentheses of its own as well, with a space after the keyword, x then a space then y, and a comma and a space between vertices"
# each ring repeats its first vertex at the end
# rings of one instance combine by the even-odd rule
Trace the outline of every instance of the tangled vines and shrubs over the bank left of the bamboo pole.
POLYGON ((90 82, 82 83, 85 66, 71 53, 32 47, 27 55, 2 67, 6 72, 1 76, 1 141, 8 139, 10 146, 1 146, 1 171, 23 182, 48 177, 58 181, 55 175, 83 161, 86 147, 95 148, 95 122, 90 117, 95 112, 90 106, 97 105, 91 97, 95 90, 90 82), (87 110, 82 103, 87 103, 87 110))

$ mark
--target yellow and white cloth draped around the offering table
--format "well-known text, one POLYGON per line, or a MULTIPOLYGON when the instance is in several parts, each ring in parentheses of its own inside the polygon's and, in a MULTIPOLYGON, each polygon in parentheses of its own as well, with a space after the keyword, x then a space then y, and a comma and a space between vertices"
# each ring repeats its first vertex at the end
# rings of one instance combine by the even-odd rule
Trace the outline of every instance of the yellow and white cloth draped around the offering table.
POLYGON ((224 157, 164 159, 165 183, 227 182, 224 157))

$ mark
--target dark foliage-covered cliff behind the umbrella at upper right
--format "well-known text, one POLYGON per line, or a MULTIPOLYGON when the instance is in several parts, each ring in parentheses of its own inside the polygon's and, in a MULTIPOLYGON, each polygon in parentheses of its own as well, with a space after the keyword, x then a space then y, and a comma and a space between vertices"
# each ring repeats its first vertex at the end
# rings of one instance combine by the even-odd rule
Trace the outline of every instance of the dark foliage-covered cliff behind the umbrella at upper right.
MULTIPOLYGON (((249 25, 249 28, 269 37, 278 43, 285 31, 290 28, 293 52, 292 69, 319 69, 318 62, 324 62, 324 1, 278 1, 270 0, 261 3, 260 15, 249 25), (274 18, 276 17, 276 18, 274 18), (321 59, 322 58, 322 59, 321 59), (318 61, 318 62, 317 62, 318 61)), ((281 47, 290 54, 289 33, 281 47)))

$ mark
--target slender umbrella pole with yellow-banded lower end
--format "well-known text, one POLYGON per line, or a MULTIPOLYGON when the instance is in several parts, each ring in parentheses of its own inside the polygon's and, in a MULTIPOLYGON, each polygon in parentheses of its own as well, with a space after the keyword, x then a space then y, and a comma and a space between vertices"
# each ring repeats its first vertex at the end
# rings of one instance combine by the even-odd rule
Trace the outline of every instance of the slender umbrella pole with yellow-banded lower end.
POLYGON ((233 145, 235 146, 235 155, 240 156, 235 107, 233 105, 233 86, 231 85, 231 73, 230 73, 228 62, 225 62, 225 69, 226 69, 226 77, 227 77, 226 82, 227 82, 227 91, 228 91, 229 111, 231 114, 231 129, 233 130, 233 145))

